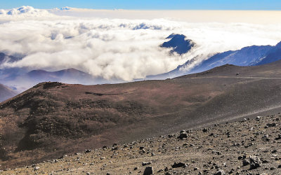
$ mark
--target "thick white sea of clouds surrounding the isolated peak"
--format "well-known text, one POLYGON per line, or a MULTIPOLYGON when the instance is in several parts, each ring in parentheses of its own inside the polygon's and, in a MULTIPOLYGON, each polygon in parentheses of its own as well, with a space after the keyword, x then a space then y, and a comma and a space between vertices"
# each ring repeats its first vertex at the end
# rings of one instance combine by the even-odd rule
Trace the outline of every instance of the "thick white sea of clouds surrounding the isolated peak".
POLYGON ((91 15, 82 18, 73 16, 73 11, 67 15, 71 9, 22 6, 0 10, 0 52, 23 57, 3 66, 47 71, 74 68, 107 80, 130 81, 171 71, 197 55, 200 57, 191 66, 216 52, 281 41, 281 22, 265 25, 91 15), (169 54, 169 48, 159 45, 172 33, 192 39, 195 48, 185 55, 169 54))

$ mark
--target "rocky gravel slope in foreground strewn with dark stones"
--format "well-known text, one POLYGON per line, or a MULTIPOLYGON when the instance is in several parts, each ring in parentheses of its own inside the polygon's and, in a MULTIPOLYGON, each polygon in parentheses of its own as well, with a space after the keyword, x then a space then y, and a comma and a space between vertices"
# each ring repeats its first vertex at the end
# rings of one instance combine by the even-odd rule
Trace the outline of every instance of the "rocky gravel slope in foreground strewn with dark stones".
MULTIPOLYGON (((58 155, 2 174, 280 174, 281 114, 58 155)), ((91 147, 89 147, 91 148, 91 147)))

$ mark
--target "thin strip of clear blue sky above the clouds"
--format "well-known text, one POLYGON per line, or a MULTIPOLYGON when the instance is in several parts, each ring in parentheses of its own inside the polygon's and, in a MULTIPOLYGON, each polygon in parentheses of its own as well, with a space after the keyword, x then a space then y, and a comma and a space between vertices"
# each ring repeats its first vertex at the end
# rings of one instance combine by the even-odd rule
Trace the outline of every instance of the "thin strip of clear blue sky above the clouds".
POLYGON ((143 10, 281 10, 281 0, 0 0, 0 9, 19 6, 143 10))

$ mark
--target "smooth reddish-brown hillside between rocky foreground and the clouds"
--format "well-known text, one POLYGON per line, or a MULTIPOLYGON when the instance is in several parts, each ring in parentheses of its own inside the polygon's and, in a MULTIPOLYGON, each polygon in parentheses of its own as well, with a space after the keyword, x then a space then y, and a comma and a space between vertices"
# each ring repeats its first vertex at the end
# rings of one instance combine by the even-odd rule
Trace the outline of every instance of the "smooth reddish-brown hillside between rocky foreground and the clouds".
POLYGON ((1 165, 280 108, 280 66, 226 65, 171 80, 115 85, 41 83, 0 104, 1 165))

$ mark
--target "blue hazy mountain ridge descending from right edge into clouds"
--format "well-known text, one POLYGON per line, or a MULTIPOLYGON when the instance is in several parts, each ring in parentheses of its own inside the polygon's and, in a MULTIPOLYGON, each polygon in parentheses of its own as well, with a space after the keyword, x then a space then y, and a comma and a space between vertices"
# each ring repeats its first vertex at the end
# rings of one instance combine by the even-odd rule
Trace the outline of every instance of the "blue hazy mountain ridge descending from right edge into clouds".
POLYGON ((207 71, 216 66, 223 64, 234 64, 237 66, 254 66, 275 62, 279 59, 281 53, 281 42, 275 46, 270 45, 252 45, 242 48, 241 50, 230 50, 226 52, 217 53, 208 59, 200 62, 189 68, 200 56, 188 60, 185 64, 178 66, 176 69, 169 71, 168 73, 162 73, 155 76, 148 76, 148 79, 165 79, 174 78, 176 76, 183 76, 189 73, 197 73, 201 71, 207 71))

